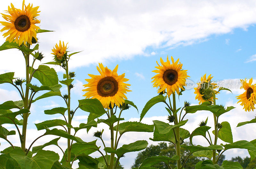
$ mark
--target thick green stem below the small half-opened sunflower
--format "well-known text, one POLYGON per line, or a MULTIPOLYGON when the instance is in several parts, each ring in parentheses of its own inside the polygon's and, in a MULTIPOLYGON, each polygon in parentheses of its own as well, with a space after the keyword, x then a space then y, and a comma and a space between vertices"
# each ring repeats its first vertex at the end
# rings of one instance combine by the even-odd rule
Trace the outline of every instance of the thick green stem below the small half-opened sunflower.
MULTIPOLYGON (((68 61, 66 61, 66 77, 69 79, 68 75, 68 61)), ((68 124, 71 124, 71 115, 70 115, 70 88, 68 86, 68 124)), ((68 128, 68 134, 71 133, 71 128, 68 128)), ((70 139, 68 139, 68 162, 71 160, 71 144, 70 139)))

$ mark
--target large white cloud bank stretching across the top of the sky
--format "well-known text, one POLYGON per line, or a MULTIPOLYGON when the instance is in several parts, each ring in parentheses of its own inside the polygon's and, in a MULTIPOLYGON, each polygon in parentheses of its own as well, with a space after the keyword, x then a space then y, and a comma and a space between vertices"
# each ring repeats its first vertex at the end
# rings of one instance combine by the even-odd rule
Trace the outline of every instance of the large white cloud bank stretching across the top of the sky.
MULTIPOLYGON (((21 1, 13 4, 16 8, 21 7, 21 1)), ((253 0, 243 3, 203 0, 197 3, 185 0, 100 3, 77 0, 62 3, 60 0, 36 0, 33 4, 40 6, 40 27, 56 31, 38 34, 40 51, 46 56, 42 62, 52 60, 52 46, 61 39, 69 42, 69 50, 83 51, 72 56, 70 68, 110 59, 129 59, 144 54, 148 46, 191 45, 212 34, 232 32, 234 28, 245 30, 256 22, 253 0)), ((9 1, 3 1, 0 11, 6 10, 8 5, 9 1)), ((4 40, 0 38, 0 42, 4 40)), ((0 72, 15 71, 19 75, 25 72, 24 60, 20 52, 13 51, 0 52, 5 56, 0 72), (15 66, 6 64, 11 62, 15 66)))

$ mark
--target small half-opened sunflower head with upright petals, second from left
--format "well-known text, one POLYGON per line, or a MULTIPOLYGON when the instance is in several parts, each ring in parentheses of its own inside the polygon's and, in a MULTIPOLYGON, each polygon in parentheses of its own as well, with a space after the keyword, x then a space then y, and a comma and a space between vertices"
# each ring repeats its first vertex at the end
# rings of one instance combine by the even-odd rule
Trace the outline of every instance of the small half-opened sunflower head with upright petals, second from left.
POLYGON ((51 54, 54 55, 54 60, 58 64, 63 63, 67 59, 67 45, 68 44, 66 44, 66 46, 65 46, 64 42, 62 42, 62 44, 61 44, 61 41, 60 41, 59 46, 57 43, 55 45, 55 48, 53 46, 53 49, 52 49, 53 53, 51 53, 51 54))

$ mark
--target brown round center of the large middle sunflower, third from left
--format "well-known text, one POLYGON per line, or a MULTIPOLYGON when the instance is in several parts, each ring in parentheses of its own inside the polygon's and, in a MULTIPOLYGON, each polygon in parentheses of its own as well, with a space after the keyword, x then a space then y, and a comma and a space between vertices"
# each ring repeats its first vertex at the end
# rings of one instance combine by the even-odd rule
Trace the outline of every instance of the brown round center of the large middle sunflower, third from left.
POLYGON ((107 76, 97 84, 97 93, 102 97, 114 96, 118 91, 118 82, 112 76, 107 76))

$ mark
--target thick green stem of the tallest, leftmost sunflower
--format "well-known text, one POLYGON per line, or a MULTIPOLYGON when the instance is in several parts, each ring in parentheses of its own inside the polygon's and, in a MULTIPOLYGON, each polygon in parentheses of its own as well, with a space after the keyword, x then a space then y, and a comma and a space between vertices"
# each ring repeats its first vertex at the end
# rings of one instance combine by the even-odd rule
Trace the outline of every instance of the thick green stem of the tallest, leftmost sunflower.
MULTIPOLYGON (((25 54, 26 62, 26 84, 30 83, 29 81, 29 55, 25 54)), ((29 88, 26 86, 25 98, 23 100, 24 109, 28 109, 28 94, 29 88)), ((22 140, 21 140, 21 150, 26 152, 26 132, 27 132, 27 123, 28 123, 28 113, 23 114, 23 125, 22 125, 22 140)))

